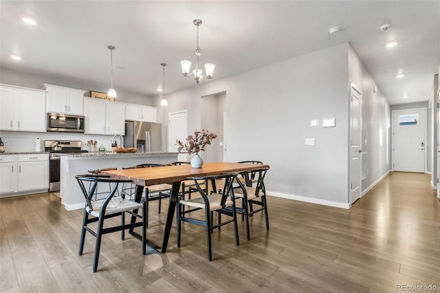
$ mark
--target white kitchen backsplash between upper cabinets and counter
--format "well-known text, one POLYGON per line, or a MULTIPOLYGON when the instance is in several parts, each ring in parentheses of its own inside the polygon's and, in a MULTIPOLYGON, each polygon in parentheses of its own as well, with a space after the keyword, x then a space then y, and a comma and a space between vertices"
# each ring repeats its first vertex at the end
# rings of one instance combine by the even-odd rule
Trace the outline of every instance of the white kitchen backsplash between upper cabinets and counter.
MULTIPOLYGON (((91 135, 82 133, 63 133, 63 132, 14 132, 0 131, 0 138, 5 144, 5 150, 9 151, 34 151, 35 141, 40 138, 41 150, 44 150, 45 140, 80 140, 83 142, 81 148, 87 149, 88 140, 96 140, 96 149, 104 147, 106 151, 111 151, 111 138, 113 135, 91 135)), ((119 138, 116 138, 119 143, 119 138)))

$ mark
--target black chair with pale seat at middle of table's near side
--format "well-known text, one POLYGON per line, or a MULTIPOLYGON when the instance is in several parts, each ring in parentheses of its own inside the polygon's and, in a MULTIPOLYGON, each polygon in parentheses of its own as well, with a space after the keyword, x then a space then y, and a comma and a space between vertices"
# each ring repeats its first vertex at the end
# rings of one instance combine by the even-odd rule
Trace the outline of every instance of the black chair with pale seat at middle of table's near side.
POLYGON ((232 183, 236 179, 236 174, 218 175, 218 176, 207 176, 207 177, 194 177, 191 180, 194 181, 197 191, 199 191, 201 197, 196 197, 192 199, 177 199, 177 247, 180 247, 181 239, 181 222, 186 221, 191 224, 196 224, 206 228, 206 243, 208 246, 208 260, 212 260, 212 250, 211 250, 211 234, 216 228, 234 223, 235 232, 235 243, 236 246, 240 245, 239 242, 239 230, 236 221, 236 210, 234 201, 234 191, 232 189, 232 183), (222 188, 217 189, 217 182, 223 180, 224 184, 222 188), (201 186, 212 186, 212 191, 208 193, 206 189, 201 186), (188 206, 190 209, 183 210, 183 206, 188 206), (227 207, 230 207, 228 209, 227 207), (187 217, 186 214, 193 213, 196 210, 205 211, 205 221, 187 217), (218 213, 217 225, 213 225, 213 214, 218 213), (220 215, 228 215, 232 217, 227 221, 221 222, 220 215))

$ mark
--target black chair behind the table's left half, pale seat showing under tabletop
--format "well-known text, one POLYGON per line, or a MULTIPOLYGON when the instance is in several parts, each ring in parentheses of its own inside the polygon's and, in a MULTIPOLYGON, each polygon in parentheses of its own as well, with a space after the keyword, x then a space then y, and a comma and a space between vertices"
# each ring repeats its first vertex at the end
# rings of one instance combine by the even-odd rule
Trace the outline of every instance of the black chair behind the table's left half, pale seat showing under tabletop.
MULTIPOLYGON (((135 166, 131 166, 128 168, 122 168, 122 169, 135 169, 135 168, 154 168, 154 167, 162 167, 166 166, 164 164, 138 164, 135 166)), ((171 195, 171 188, 173 186, 171 184, 155 184, 150 186, 145 186, 145 199, 146 199, 146 226, 148 227, 148 202, 151 202, 152 200, 158 200, 158 207, 157 207, 157 213, 160 214, 162 210, 162 199, 168 198, 171 195)), ((125 193, 127 195, 134 195, 135 188, 131 187, 130 191, 127 191, 125 189, 125 193)))

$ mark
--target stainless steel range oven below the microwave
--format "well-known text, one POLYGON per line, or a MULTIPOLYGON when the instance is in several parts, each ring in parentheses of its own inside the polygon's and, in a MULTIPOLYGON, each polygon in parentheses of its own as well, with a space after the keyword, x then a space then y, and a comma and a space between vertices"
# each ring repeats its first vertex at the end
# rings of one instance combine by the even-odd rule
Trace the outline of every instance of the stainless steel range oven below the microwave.
POLYGON ((45 140, 44 150, 49 155, 49 191, 60 190, 60 153, 87 153, 80 140, 45 140))

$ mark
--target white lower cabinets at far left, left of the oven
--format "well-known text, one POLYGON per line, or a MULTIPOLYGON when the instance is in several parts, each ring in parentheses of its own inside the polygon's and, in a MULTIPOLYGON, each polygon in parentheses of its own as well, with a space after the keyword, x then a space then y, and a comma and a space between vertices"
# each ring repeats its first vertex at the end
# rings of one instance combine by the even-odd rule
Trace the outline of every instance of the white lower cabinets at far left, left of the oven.
POLYGON ((49 189, 49 155, 0 155, 0 194, 49 189))

